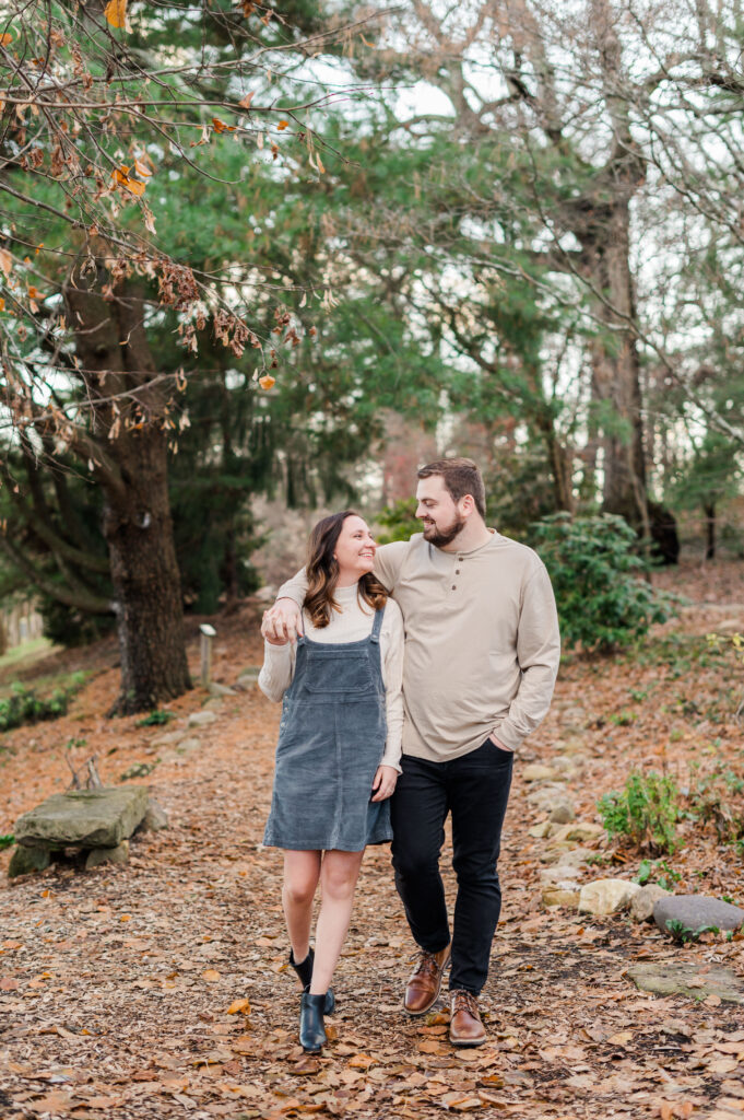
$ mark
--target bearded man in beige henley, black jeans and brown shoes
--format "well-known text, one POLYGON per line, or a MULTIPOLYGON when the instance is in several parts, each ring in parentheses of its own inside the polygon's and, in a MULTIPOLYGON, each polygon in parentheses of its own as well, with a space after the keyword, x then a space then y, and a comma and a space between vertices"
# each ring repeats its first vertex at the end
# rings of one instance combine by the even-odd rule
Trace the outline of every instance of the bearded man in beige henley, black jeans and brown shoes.
MULTIPOLYGON (((548 710, 561 640, 545 566, 487 528, 472 460, 423 467, 416 498, 423 533, 382 545, 375 558, 406 629, 393 867, 421 956, 404 1007, 424 1015, 451 962, 450 1039, 479 1046, 486 1030, 478 997, 501 907, 497 861, 514 753, 548 710), (439 869, 448 813, 458 878, 452 940, 439 869)), ((300 575, 280 588, 262 627, 270 641, 296 636, 304 586, 300 575)))

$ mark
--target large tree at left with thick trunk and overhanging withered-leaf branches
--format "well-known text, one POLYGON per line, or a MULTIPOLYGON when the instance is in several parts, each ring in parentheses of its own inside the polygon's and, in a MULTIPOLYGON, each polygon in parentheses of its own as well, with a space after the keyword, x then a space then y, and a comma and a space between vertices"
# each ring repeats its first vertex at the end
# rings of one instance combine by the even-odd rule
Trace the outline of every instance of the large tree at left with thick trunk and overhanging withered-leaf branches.
MULTIPOLYGON (((27 456, 72 455, 105 495, 121 712, 189 687, 167 488, 185 382, 156 367, 148 318, 158 306, 175 317, 187 352, 207 325, 236 358, 253 348, 265 388, 282 343, 300 342, 289 318, 274 335, 253 329, 249 262, 198 272, 188 246, 162 244, 148 202, 179 168, 208 181, 213 144, 258 141, 273 161, 290 133, 298 142, 291 106, 252 104, 276 52, 300 38, 283 28, 262 45, 271 18, 252 3, 38 0, 0 36, 4 403, 27 456)), ((305 152, 313 141, 305 129, 305 152)), ((0 540, 18 560, 10 530, 0 540)))

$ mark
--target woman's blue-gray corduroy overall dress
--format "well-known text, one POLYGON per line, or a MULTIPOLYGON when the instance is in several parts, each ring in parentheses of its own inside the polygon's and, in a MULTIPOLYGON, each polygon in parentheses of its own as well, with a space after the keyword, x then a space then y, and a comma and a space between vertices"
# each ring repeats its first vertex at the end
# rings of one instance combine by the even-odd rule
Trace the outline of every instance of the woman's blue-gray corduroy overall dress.
POLYGON ((267 847, 362 851, 393 838, 389 799, 370 800, 387 734, 384 613, 375 612, 369 637, 359 642, 298 638, 282 704, 267 847))

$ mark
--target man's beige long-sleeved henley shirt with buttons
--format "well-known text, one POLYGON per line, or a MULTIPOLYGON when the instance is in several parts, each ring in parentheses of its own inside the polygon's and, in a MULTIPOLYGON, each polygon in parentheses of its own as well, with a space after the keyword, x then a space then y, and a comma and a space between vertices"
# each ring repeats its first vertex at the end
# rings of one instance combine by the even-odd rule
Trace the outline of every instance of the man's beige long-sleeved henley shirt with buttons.
MULTIPOLYGON (((375 575, 405 625, 404 756, 446 762, 491 734, 516 749, 549 708, 561 659, 537 553, 497 532, 470 552, 445 552, 416 533, 380 545, 375 575)), ((299 572, 279 597, 301 606, 305 586, 299 572)))

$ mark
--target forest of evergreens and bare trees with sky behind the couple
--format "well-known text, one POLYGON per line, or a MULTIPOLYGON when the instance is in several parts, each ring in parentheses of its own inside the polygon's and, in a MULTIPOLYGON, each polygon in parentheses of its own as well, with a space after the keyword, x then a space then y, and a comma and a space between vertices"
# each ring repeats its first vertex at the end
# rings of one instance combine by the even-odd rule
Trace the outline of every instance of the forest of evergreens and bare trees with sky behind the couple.
POLYGON ((528 542, 738 554, 741 41, 734 0, 0 6, 3 604, 117 625, 151 708, 183 607, 319 510, 415 529, 439 454, 528 542))

